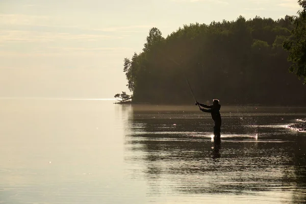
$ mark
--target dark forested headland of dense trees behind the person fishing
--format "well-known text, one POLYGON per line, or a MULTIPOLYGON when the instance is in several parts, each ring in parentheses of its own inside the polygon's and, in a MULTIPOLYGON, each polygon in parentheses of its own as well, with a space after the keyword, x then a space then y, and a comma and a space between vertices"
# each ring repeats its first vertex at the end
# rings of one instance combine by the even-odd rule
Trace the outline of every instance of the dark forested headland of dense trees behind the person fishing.
POLYGON ((273 20, 192 23, 166 38, 152 28, 143 51, 124 59, 133 102, 223 105, 305 105, 306 86, 289 72, 283 43, 295 28, 292 16, 273 20))

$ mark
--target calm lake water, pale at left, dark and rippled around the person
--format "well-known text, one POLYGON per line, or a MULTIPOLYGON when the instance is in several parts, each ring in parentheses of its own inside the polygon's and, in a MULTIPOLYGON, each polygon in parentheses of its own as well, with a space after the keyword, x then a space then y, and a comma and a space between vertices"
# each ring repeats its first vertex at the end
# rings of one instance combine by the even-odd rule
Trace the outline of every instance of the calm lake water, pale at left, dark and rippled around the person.
POLYGON ((304 203, 306 108, 0 99, 0 203, 304 203))

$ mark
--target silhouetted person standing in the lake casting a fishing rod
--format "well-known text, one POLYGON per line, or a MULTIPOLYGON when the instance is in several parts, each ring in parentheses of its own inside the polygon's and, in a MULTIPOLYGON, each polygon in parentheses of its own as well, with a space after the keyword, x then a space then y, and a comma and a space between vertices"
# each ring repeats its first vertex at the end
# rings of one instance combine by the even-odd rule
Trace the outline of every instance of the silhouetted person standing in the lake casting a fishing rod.
POLYGON ((207 108, 207 109, 203 109, 203 108, 200 107, 200 110, 203 111, 203 112, 206 112, 206 113, 211 113, 212 118, 215 122, 215 125, 214 125, 214 136, 215 137, 214 138, 215 139, 220 139, 222 120, 221 120, 221 114, 220 114, 221 105, 219 104, 219 100, 214 99, 213 100, 213 105, 211 105, 211 106, 208 106, 208 105, 205 105, 205 104, 200 104, 200 103, 198 103, 198 101, 196 101, 195 105, 199 105, 201 107, 207 108))

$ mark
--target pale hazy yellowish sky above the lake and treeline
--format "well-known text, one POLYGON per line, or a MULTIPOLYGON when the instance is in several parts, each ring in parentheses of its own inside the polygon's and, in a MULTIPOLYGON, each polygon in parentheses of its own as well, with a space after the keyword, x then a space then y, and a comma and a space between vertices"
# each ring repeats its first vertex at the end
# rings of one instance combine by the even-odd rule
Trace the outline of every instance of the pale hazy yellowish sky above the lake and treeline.
POLYGON ((295 15, 297 0, 0 0, 0 97, 110 98, 151 27, 295 15))

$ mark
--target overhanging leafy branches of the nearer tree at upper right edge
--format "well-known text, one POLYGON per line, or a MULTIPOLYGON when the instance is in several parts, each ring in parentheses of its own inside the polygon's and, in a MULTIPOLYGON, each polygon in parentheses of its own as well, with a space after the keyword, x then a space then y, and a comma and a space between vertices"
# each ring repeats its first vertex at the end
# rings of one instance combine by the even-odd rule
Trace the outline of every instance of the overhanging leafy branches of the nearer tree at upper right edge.
POLYGON ((304 78, 306 84, 306 0, 299 0, 303 10, 292 18, 295 28, 292 35, 284 42, 284 48, 289 51, 288 60, 292 62, 289 70, 299 79, 304 78))

